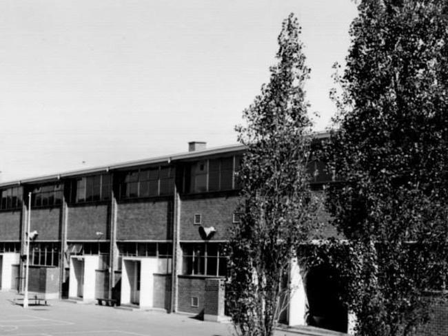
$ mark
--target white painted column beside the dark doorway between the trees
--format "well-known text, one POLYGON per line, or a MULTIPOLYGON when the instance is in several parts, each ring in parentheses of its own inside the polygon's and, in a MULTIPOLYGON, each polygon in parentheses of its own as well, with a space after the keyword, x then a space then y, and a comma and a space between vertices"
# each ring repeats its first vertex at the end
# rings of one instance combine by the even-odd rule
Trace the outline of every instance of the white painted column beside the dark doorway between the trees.
POLYGON ((292 286, 292 292, 289 294, 288 326, 304 326, 307 297, 305 286, 303 286, 301 269, 296 258, 291 262, 289 282, 292 286))

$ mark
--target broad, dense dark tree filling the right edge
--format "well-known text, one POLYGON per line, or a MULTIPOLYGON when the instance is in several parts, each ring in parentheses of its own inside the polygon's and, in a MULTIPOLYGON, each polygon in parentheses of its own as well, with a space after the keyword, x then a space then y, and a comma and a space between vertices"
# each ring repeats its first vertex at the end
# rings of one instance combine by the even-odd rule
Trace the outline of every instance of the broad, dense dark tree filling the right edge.
POLYGON ((409 335, 447 258, 448 6, 363 0, 327 148, 343 181, 329 192, 349 238, 345 274, 358 335, 409 335))

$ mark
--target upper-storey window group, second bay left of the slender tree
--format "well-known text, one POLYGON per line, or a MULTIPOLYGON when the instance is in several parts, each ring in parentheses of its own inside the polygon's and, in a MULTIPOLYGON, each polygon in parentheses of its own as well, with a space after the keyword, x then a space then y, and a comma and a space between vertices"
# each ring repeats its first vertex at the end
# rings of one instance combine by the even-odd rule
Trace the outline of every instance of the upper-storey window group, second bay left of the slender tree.
POLYGON ((120 198, 172 195, 174 169, 168 166, 128 171, 121 176, 120 198))

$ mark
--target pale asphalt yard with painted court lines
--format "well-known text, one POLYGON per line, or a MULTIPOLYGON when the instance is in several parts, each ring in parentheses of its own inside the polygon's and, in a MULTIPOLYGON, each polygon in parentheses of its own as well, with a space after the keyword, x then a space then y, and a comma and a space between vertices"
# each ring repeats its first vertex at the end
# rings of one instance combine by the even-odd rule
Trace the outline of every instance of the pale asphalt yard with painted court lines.
MULTIPOLYGON (((15 293, 0 292, 0 335, 16 336, 231 336, 232 324, 203 322, 190 315, 126 311, 94 304, 52 300, 48 306, 14 304, 15 293)), ((298 335, 285 331, 276 336, 298 335)))

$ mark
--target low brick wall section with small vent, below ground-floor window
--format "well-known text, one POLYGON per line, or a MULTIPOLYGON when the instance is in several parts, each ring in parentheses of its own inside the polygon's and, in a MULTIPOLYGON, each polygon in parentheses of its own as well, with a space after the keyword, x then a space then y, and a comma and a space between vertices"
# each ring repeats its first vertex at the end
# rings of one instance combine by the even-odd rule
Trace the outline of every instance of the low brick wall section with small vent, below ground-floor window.
POLYGON ((201 314, 204 310, 205 278, 179 276, 178 311, 201 314), (192 307, 192 297, 198 297, 198 307, 192 307))

